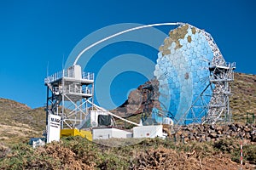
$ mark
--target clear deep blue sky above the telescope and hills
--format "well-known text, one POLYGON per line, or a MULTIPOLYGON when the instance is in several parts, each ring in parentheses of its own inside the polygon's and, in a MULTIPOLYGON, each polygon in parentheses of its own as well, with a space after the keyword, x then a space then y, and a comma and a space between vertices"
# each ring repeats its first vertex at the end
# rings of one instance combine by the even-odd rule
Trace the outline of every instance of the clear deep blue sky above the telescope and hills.
MULTIPOLYGON (((32 108, 43 106, 48 63, 49 73, 61 71, 63 58, 65 62, 81 39, 119 23, 187 22, 211 33, 224 59, 236 61, 236 71, 256 74, 255 4, 253 0, 1 1, 0 97, 32 108)), ((172 27, 161 29, 168 33, 172 27)), ((144 53, 133 45, 123 44, 144 53)), ((132 87, 136 83, 120 77, 115 82, 119 80, 127 85, 113 94, 122 96, 113 99, 117 102, 125 99, 125 90, 136 88, 132 87)))

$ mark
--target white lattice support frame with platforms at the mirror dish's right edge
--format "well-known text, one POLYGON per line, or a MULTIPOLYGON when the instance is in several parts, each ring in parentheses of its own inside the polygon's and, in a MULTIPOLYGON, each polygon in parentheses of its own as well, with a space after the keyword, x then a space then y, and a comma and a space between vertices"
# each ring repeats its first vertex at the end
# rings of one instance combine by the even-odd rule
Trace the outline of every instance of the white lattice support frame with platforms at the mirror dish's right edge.
POLYGON ((204 35, 212 48, 213 59, 209 65, 212 99, 202 123, 231 122, 229 82, 234 81, 236 63, 226 63, 212 36, 205 31, 204 35))

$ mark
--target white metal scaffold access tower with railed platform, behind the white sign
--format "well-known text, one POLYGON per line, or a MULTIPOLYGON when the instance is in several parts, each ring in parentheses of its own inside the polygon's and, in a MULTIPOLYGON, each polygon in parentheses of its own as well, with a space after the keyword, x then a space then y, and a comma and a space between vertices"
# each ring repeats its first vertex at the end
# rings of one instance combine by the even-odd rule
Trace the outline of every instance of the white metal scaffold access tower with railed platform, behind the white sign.
POLYGON ((46 117, 61 116, 61 129, 80 127, 93 105, 94 74, 82 72, 80 65, 73 65, 46 77, 44 84, 46 117))

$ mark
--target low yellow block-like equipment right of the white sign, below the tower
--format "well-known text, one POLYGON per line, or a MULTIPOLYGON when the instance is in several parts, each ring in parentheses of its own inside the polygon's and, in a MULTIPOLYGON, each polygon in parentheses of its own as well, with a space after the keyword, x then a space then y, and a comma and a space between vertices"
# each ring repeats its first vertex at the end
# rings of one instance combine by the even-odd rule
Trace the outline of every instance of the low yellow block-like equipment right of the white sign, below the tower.
POLYGON ((64 128, 61 129, 61 137, 63 136, 81 136, 92 141, 92 134, 90 131, 79 130, 77 128, 64 128))

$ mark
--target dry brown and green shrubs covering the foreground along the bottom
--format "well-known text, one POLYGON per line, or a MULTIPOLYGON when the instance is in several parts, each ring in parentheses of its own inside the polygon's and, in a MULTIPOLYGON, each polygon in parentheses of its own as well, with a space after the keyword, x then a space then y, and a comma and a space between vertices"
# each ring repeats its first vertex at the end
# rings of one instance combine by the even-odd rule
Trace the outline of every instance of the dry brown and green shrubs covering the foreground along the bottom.
MULTIPOLYGON (((113 139, 114 140, 114 139, 113 139)), ((237 156, 239 156, 239 145, 237 156)), ((2 169, 238 169, 240 164, 212 143, 174 144, 145 139, 111 148, 79 137, 62 139, 33 150, 26 144, 0 145, 2 169)), ((235 151, 234 151, 235 152, 235 151)), ((246 164, 244 169, 253 169, 246 164)))

